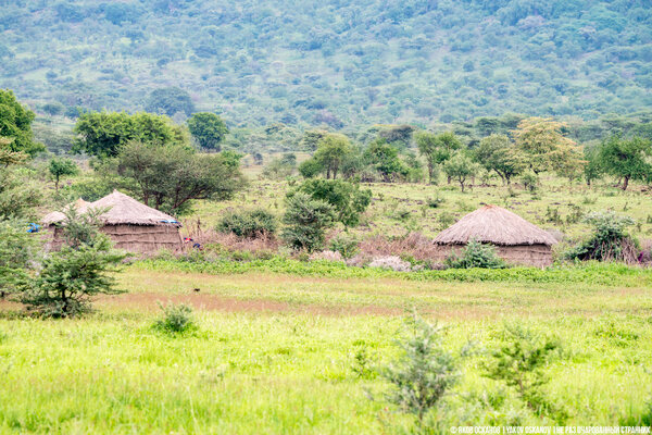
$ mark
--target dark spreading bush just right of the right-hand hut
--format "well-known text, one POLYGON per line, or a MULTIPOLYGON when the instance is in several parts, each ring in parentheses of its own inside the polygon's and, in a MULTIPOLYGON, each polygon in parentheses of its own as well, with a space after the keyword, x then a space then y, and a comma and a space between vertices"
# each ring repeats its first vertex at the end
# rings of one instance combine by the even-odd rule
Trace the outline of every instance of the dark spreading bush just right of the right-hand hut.
POLYGON ((585 222, 593 226, 593 234, 584 243, 564 253, 567 260, 638 261, 636 241, 625 228, 634 225, 629 216, 619 216, 613 211, 590 213, 585 222))

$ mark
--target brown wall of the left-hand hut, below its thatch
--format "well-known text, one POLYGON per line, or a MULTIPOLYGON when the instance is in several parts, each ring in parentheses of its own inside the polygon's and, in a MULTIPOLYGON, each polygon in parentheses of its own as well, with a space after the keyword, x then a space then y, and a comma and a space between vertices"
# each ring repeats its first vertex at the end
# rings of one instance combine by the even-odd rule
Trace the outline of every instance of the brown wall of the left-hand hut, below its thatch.
MULTIPOLYGON (((115 243, 115 248, 129 252, 156 253, 165 249, 181 249, 181 236, 174 225, 105 225, 100 231, 115 243)), ((49 250, 59 250, 63 245, 62 228, 51 226, 49 250)))

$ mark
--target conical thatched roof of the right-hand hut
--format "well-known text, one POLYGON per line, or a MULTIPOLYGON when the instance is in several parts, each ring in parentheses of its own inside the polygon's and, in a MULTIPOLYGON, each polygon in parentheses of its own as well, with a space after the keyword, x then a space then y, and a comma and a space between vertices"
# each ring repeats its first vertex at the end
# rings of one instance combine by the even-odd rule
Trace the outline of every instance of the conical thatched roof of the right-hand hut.
POLYGON ((537 225, 497 206, 485 206, 468 213, 442 231, 435 238, 435 244, 464 245, 472 239, 502 246, 556 244, 550 234, 537 225))

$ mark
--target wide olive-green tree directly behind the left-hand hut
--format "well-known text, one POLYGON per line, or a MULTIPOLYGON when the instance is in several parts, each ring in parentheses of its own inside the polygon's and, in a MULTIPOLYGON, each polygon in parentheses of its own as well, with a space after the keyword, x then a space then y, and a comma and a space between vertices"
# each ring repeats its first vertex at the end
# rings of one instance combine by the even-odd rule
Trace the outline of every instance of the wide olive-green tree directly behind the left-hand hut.
POLYGON ((201 156, 184 145, 134 141, 121 148, 117 170, 146 204, 183 213, 193 199, 222 200, 242 188, 238 160, 226 152, 201 156))

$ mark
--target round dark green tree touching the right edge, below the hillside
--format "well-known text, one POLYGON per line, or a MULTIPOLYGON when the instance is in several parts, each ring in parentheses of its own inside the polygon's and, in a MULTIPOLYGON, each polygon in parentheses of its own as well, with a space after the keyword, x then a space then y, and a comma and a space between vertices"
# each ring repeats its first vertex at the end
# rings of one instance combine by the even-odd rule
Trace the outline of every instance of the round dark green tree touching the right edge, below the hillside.
POLYGON ((600 162, 604 171, 623 179, 620 188, 627 190, 630 179, 652 178, 652 146, 650 140, 638 137, 623 139, 612 136, 600 146, 600 162))

